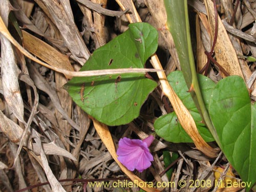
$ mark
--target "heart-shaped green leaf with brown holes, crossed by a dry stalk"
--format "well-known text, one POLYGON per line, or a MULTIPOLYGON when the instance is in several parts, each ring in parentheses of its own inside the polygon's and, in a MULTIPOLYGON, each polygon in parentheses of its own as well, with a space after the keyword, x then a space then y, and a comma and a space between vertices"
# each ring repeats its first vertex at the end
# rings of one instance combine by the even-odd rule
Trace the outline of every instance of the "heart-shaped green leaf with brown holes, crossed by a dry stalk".
MULTIPOLYGON (((95 50, 80 71, 143 68, 157 49, 158 32, 147 23, 129 29, 95 50)), ((143 74, 74 77, 67 84, 70 96, 84 111, 107 125, 131 122, 157 86, 143 74)))

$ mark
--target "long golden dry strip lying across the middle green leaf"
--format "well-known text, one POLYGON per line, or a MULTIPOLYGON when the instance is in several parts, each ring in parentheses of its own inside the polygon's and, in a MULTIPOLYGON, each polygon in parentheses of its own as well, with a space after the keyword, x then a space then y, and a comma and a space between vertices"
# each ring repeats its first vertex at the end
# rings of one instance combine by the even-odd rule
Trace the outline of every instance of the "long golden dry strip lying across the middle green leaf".
MULTIPOLYGON (((118 3, 118 5, 121 7, 122 10, 129 8, 130 11, 133 12, 132 16, 126 14, 127 19, 129 20, 130 23, 141 22, 141 19, 132 1, 116 0, 116 2, 118 3)), ((161 63, 156 54, 153 54, 151 56, 151 59, 152 59, 152 65, 155 69, 163 70, 161 63)), ((162 86, 163 94, 166 95, 170 100, 170 102, 172 103, 174 111, 177 114, 177 117, 181 123, 181 126, 189 135, 189 137, 193 139, 198 150, 203 152, 208 157, 212 157, 212 158, 216 157, 219 150, 212 148, 203 140, 203 138, 198 132, 198 129, 193 117, 191 116, 189 111, 186 109, 185 105, 182 103, 180 98, 177 96, 173 88, 170 87, 170 84, 168 83, 165 73, 163 71, 160 71, 160 72, 157 72, 157 75, 159 77, 159 80, 162 86)))

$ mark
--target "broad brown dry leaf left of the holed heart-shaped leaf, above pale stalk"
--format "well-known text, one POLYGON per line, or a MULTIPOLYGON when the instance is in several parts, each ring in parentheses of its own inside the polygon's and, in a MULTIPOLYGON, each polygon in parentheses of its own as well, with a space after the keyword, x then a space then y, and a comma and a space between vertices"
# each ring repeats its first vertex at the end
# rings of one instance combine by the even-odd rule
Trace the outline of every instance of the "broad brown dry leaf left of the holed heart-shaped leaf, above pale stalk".
MULTIPOLYGON (((49 63, 51 66, 68 71, 74 71, 67 55, 63 55, 46 42, 36 38, 24 30, 22 30, 22 35, 24 48, 30 53, 49 63)), ((69 79, 72 78, 69 75, 66 75, 66 77, 69 79)))

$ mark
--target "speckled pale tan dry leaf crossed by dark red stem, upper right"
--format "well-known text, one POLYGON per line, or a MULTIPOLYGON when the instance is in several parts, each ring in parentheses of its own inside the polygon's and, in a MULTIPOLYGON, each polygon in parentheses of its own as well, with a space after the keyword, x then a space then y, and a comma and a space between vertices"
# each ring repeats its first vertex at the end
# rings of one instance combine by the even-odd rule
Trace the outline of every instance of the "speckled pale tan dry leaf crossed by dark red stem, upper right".
MULTIPOLYGON (((205 6, 207 10, 207 15, 209 19, 209 24, 211 26, 211 33, 214 36, 215 31, 215 13, 214 13, 214 3, 210 0, 205 0, 205 6)), ((222 66, 229 75, 239 75, 244 78, 236 51, 231 44, 225 27, 223 26, 221 19, 218 15, 218 35, 217 42, 215 46, 215 55, 217 62, 222 66)), ((224 74, 222 74, 224 76, 224 74)))

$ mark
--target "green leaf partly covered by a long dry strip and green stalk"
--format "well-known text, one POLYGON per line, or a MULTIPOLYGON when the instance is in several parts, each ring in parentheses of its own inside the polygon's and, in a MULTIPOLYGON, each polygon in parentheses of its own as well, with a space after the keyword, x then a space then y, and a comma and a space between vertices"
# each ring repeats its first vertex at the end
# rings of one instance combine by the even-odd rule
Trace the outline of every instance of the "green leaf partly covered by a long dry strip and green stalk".
MULTIPOLYGON (((210 134, 209 130, 202 123, 202 118, 198 113, 191 95, 187 92, 188 90, 182 72, 172 72, 168 75, 167 78, 176 94, 179 96, 186 108, 189 110, 190 114, 193 116, 200 135, 206 142, 214 141, 214 138, 210 134)), ((208 106, 210 94, 212 88, 215 87, 215 83, 203 75, 198 75, 198 79, 205 105, 208 106)), ((157 135, 166 141, 174 143, 193 142, 193 140, 182 128, 175 112, 159 117, 155 121, 154 126, 157 135)))

